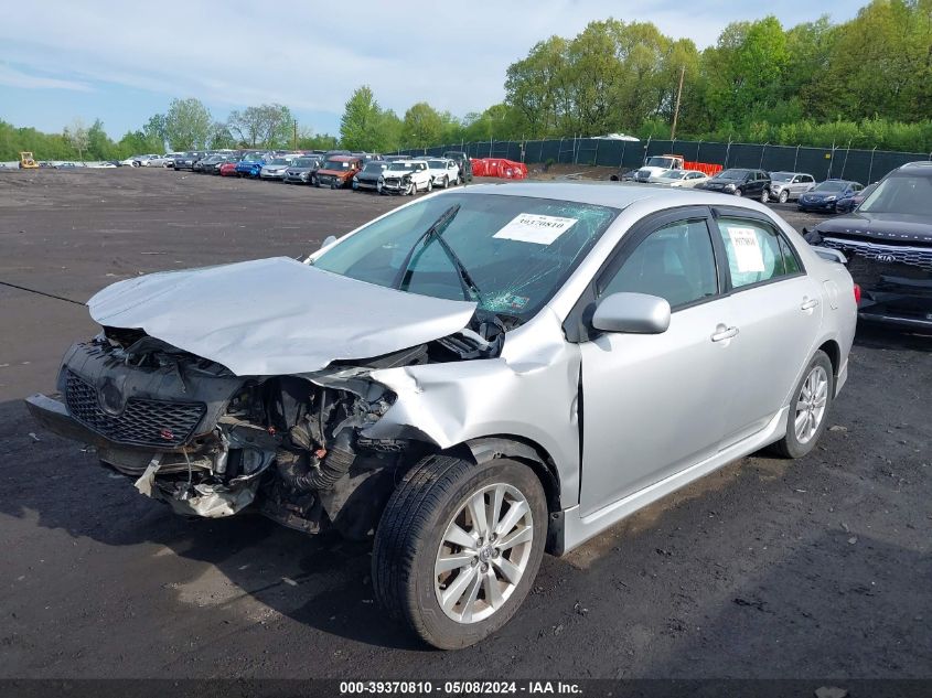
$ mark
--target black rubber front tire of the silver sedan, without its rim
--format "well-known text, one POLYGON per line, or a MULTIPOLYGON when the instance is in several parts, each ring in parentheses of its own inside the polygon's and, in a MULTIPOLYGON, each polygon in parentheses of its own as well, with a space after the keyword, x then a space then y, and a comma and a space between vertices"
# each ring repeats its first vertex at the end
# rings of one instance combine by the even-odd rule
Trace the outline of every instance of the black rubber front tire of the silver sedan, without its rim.
POLYGON ((526 465, 507 459, 476 464, 449 455, 427 457, 405 474, 375 533, 372 579, 376 600, 426 643, 441 649, 468 647, 515 614, 540 567, 546 534, 544 488, 526 465), (440 606, 433 566, 447 525, 472 494, 493 483, 515 487, 525 497, 533 520, 531 554, 521 579, 499 610, 483 620, 460 623, 440 606))

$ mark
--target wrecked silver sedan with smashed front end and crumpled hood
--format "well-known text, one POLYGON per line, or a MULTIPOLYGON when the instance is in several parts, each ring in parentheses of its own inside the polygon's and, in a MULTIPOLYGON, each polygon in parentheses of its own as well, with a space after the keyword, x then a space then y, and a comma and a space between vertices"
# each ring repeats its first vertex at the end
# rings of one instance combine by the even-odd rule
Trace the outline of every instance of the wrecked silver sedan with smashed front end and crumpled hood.
POLYGON ((382 606, 479 642, 560 555, 762 447, 812 450, 847 377, 844 266, 768 208, 508 184, 409 203, 303 262, 120 281, 53 431, 179 514, 374 536, 382 606))

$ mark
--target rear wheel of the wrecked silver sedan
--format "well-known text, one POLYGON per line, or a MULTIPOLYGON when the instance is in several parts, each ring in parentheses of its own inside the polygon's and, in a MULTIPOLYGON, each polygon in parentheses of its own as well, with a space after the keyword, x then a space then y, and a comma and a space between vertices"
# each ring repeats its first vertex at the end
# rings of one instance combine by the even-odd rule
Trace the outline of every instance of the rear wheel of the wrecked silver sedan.
POLYGON ((812 451, 825 431, 825 418, 834 395, 835 375, 832 362, 825 352, 819 350, 812 357, 793 391, 786 433, 773 444, 773 450, 784 458, 802 458, 812 451))

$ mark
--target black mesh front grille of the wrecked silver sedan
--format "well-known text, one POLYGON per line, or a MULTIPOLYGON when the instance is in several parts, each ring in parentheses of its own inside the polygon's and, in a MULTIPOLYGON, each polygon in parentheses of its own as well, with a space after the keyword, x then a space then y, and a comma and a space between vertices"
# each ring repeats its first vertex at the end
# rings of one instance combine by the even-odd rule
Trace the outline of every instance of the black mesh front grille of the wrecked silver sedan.
POLYGON ((72 417, 110 441, 156 448, 182 445, 207 409, 204 402, 133 397, 122 414, 109 415, 100 407, 94 386, 72 372, 66 376, 65 402, 72 417))

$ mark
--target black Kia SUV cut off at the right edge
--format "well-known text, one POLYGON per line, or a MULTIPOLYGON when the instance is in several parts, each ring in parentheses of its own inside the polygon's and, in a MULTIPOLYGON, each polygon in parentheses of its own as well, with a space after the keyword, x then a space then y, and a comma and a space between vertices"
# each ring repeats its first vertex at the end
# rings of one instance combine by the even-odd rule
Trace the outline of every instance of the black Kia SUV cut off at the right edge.
POLYGON ((863 320, 932 330, 932 162, 893 170, 857 211, 803 233, 845 255, 863 320))

